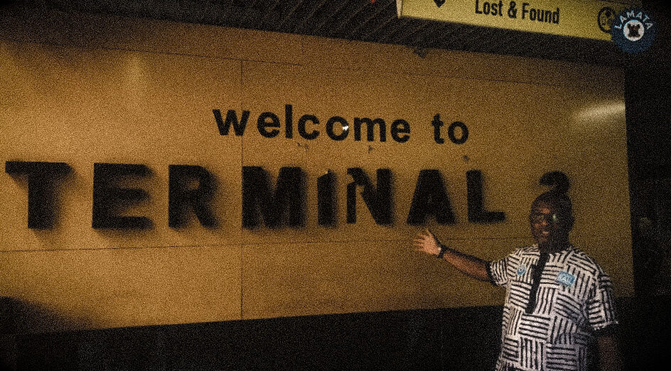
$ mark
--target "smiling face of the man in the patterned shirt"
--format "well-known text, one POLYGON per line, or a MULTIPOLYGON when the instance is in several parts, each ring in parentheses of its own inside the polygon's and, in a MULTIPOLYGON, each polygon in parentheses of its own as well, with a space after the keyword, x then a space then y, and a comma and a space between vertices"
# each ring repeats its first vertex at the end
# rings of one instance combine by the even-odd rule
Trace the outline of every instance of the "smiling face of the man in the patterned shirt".
POLYGON ((531 235, 541 250, 561 250, 569 243, 571 216, 552 203, 537 201, 529 215, 531 235))

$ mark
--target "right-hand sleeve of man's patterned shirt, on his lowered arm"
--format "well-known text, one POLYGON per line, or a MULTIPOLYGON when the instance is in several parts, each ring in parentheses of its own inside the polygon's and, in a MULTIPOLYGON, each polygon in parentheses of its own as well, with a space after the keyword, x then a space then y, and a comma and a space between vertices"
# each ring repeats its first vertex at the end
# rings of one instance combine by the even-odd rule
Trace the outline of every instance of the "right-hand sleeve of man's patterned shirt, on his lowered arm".
POLYGON ((592 293, 586 306, 589 327, 596 335, 608 333, 618 325, 611 277, 599 272, 596 277, 596 287, 592 293))

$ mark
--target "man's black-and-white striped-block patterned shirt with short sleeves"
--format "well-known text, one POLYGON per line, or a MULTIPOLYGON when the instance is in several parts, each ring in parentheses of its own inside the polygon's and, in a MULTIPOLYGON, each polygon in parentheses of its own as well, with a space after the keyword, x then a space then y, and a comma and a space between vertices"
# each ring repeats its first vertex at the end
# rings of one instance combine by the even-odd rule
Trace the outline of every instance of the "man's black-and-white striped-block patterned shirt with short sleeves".
POLYGON ((611 279, 594 259, 532 245, 486 267, 506 288, 496 370, 587 370, 595 336, 618 323, 611 279))

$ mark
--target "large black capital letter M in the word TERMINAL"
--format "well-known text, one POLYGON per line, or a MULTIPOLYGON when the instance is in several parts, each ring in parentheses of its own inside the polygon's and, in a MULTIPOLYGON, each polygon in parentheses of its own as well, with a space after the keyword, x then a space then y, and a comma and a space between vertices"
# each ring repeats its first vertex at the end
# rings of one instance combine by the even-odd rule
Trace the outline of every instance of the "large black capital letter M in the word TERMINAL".
POLYGON ((259 166, 242 167, 242 227, 257 228, 261 221, 269 228, 281 226, 284 215, 292 227, 305 225, 306 192, 300 167, 282 167, 272 192, 268 173, 259 166))

